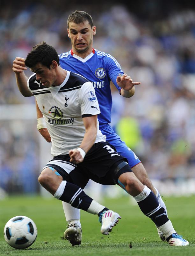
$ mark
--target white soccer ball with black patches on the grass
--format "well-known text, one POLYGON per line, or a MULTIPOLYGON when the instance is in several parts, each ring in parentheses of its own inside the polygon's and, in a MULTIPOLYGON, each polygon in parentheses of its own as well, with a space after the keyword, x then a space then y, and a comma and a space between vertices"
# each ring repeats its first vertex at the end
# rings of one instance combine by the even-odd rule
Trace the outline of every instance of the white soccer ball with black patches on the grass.
POLYGON ((11 218, 4 227, 5 241, 16 249, 25 249, 34 243, 37 227, 33 220, 26 216, 11 218))

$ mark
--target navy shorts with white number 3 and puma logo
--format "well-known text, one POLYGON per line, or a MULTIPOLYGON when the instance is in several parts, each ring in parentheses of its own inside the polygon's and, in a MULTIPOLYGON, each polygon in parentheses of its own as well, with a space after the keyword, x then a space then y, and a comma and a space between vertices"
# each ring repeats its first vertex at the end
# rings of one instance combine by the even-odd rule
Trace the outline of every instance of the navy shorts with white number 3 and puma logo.
POLYGON ((117 184, 118 176, 124 172, 131 172, 127 164, 122 171, 116 174, 116 169, 121 163, 128 163, 124 156, 119 155, 116 149, 108 142, 98 142, 93 145, 80 164, 69 162, 69 155, 54 156, 44 168, 54 168, 64 180, 84 188, 89 179, 103 184, 117 184))

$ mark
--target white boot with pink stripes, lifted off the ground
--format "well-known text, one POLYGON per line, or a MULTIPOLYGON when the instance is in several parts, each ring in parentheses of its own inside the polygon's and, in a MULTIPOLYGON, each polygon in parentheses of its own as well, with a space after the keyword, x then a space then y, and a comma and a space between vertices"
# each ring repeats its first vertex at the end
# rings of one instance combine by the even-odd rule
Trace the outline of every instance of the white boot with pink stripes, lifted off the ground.
POLYGON ((118 219, 121 219, 121 217, 116 212, 110 210, 102 212, 99 216, 99 222, 102 223, 100 229, 101 233, 103 235, 109 235, 109 232, 112 231, 112 228, 119 222, 118 219))

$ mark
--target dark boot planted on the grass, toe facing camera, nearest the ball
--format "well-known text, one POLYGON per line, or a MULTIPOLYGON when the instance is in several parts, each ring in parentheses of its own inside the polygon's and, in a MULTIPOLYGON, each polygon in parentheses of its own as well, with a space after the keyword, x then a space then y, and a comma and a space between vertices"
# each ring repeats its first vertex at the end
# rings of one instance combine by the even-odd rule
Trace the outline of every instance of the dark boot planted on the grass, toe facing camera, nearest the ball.
POLYGON ((76 224, 69 224, 64 232, 64 238, 74 245, 80 245, 82 239, 82 229, 76 224))

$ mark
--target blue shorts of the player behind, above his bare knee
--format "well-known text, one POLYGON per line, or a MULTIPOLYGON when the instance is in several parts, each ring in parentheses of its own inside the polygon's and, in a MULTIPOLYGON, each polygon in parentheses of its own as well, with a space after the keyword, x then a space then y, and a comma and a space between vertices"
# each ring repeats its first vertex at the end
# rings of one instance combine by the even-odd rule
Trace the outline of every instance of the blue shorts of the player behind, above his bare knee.
POLYGON ((127 158, 131 168, 141 163, 140 159, 135 155, 135 153, 128 148, 125 142, 120 139, 119 135, 113 131, 110 124, 105 125, 104 127, 100 128, 100 130, 102 134, 106 135, 106 141, 113 145, 120 155, 127 158))

